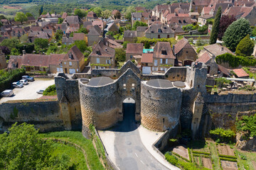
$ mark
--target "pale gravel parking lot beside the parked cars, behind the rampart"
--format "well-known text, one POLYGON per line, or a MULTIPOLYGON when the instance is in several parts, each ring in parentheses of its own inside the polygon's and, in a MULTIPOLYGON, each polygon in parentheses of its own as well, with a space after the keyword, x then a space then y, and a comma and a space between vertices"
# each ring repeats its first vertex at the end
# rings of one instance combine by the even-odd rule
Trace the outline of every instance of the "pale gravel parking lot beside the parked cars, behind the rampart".
POLYGON ((0 103, 6 101, 15 100, 30 100, 43 96, 43 94, 37 94, 36 91, 46 89, 48 86, 54 84, 54 79, 36 79, 35 81, 28 81, 27 85, 23 85, 22 88, 14 88, 14 96, 3 97, 0 99, 0 103))

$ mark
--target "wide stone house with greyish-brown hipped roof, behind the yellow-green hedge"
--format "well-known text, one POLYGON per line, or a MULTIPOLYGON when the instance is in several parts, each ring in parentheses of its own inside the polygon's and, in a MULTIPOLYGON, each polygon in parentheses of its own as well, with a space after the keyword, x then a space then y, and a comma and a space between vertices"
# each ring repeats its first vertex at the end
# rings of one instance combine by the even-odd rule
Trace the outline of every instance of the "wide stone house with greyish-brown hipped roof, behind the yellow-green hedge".
POLYGON ((145 36, 146 38, 174 38, 174 30, 156 21, 146 30, 145 36))

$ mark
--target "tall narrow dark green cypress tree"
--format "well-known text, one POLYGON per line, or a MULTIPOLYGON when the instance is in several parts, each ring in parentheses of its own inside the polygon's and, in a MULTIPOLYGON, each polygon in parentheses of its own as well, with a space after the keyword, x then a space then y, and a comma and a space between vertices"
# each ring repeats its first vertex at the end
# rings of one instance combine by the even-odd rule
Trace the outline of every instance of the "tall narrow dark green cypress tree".
POLYGON ((220 27, 220 16, 221 16, 221 7, 218 8, 218 11, 216 13, 214 23, 213 23, 213 29, 210 32, 210 44, 215 44, 218 38, 218 30, 220 27))

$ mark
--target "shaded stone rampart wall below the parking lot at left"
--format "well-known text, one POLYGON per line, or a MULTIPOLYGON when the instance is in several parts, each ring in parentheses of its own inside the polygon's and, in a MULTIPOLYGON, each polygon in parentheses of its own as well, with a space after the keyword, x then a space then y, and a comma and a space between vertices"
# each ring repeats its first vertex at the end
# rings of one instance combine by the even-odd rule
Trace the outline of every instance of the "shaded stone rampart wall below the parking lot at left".
POLYGON ((31 123, 40 132, 65 130, 58 101, 2 103, 0 120, 3 121, 0 123, 2 132, 16 122, 31 123))

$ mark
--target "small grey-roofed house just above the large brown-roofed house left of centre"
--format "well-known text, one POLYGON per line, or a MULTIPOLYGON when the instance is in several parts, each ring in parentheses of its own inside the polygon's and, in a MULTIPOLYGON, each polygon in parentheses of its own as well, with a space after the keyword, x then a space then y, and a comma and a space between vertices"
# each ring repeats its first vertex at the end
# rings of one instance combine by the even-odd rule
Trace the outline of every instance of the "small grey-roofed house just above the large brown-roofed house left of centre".
POLYGON ((93 26, 87 34, 88 45, 94 45, 102 40, 102 30, 99 26, 93 26))

